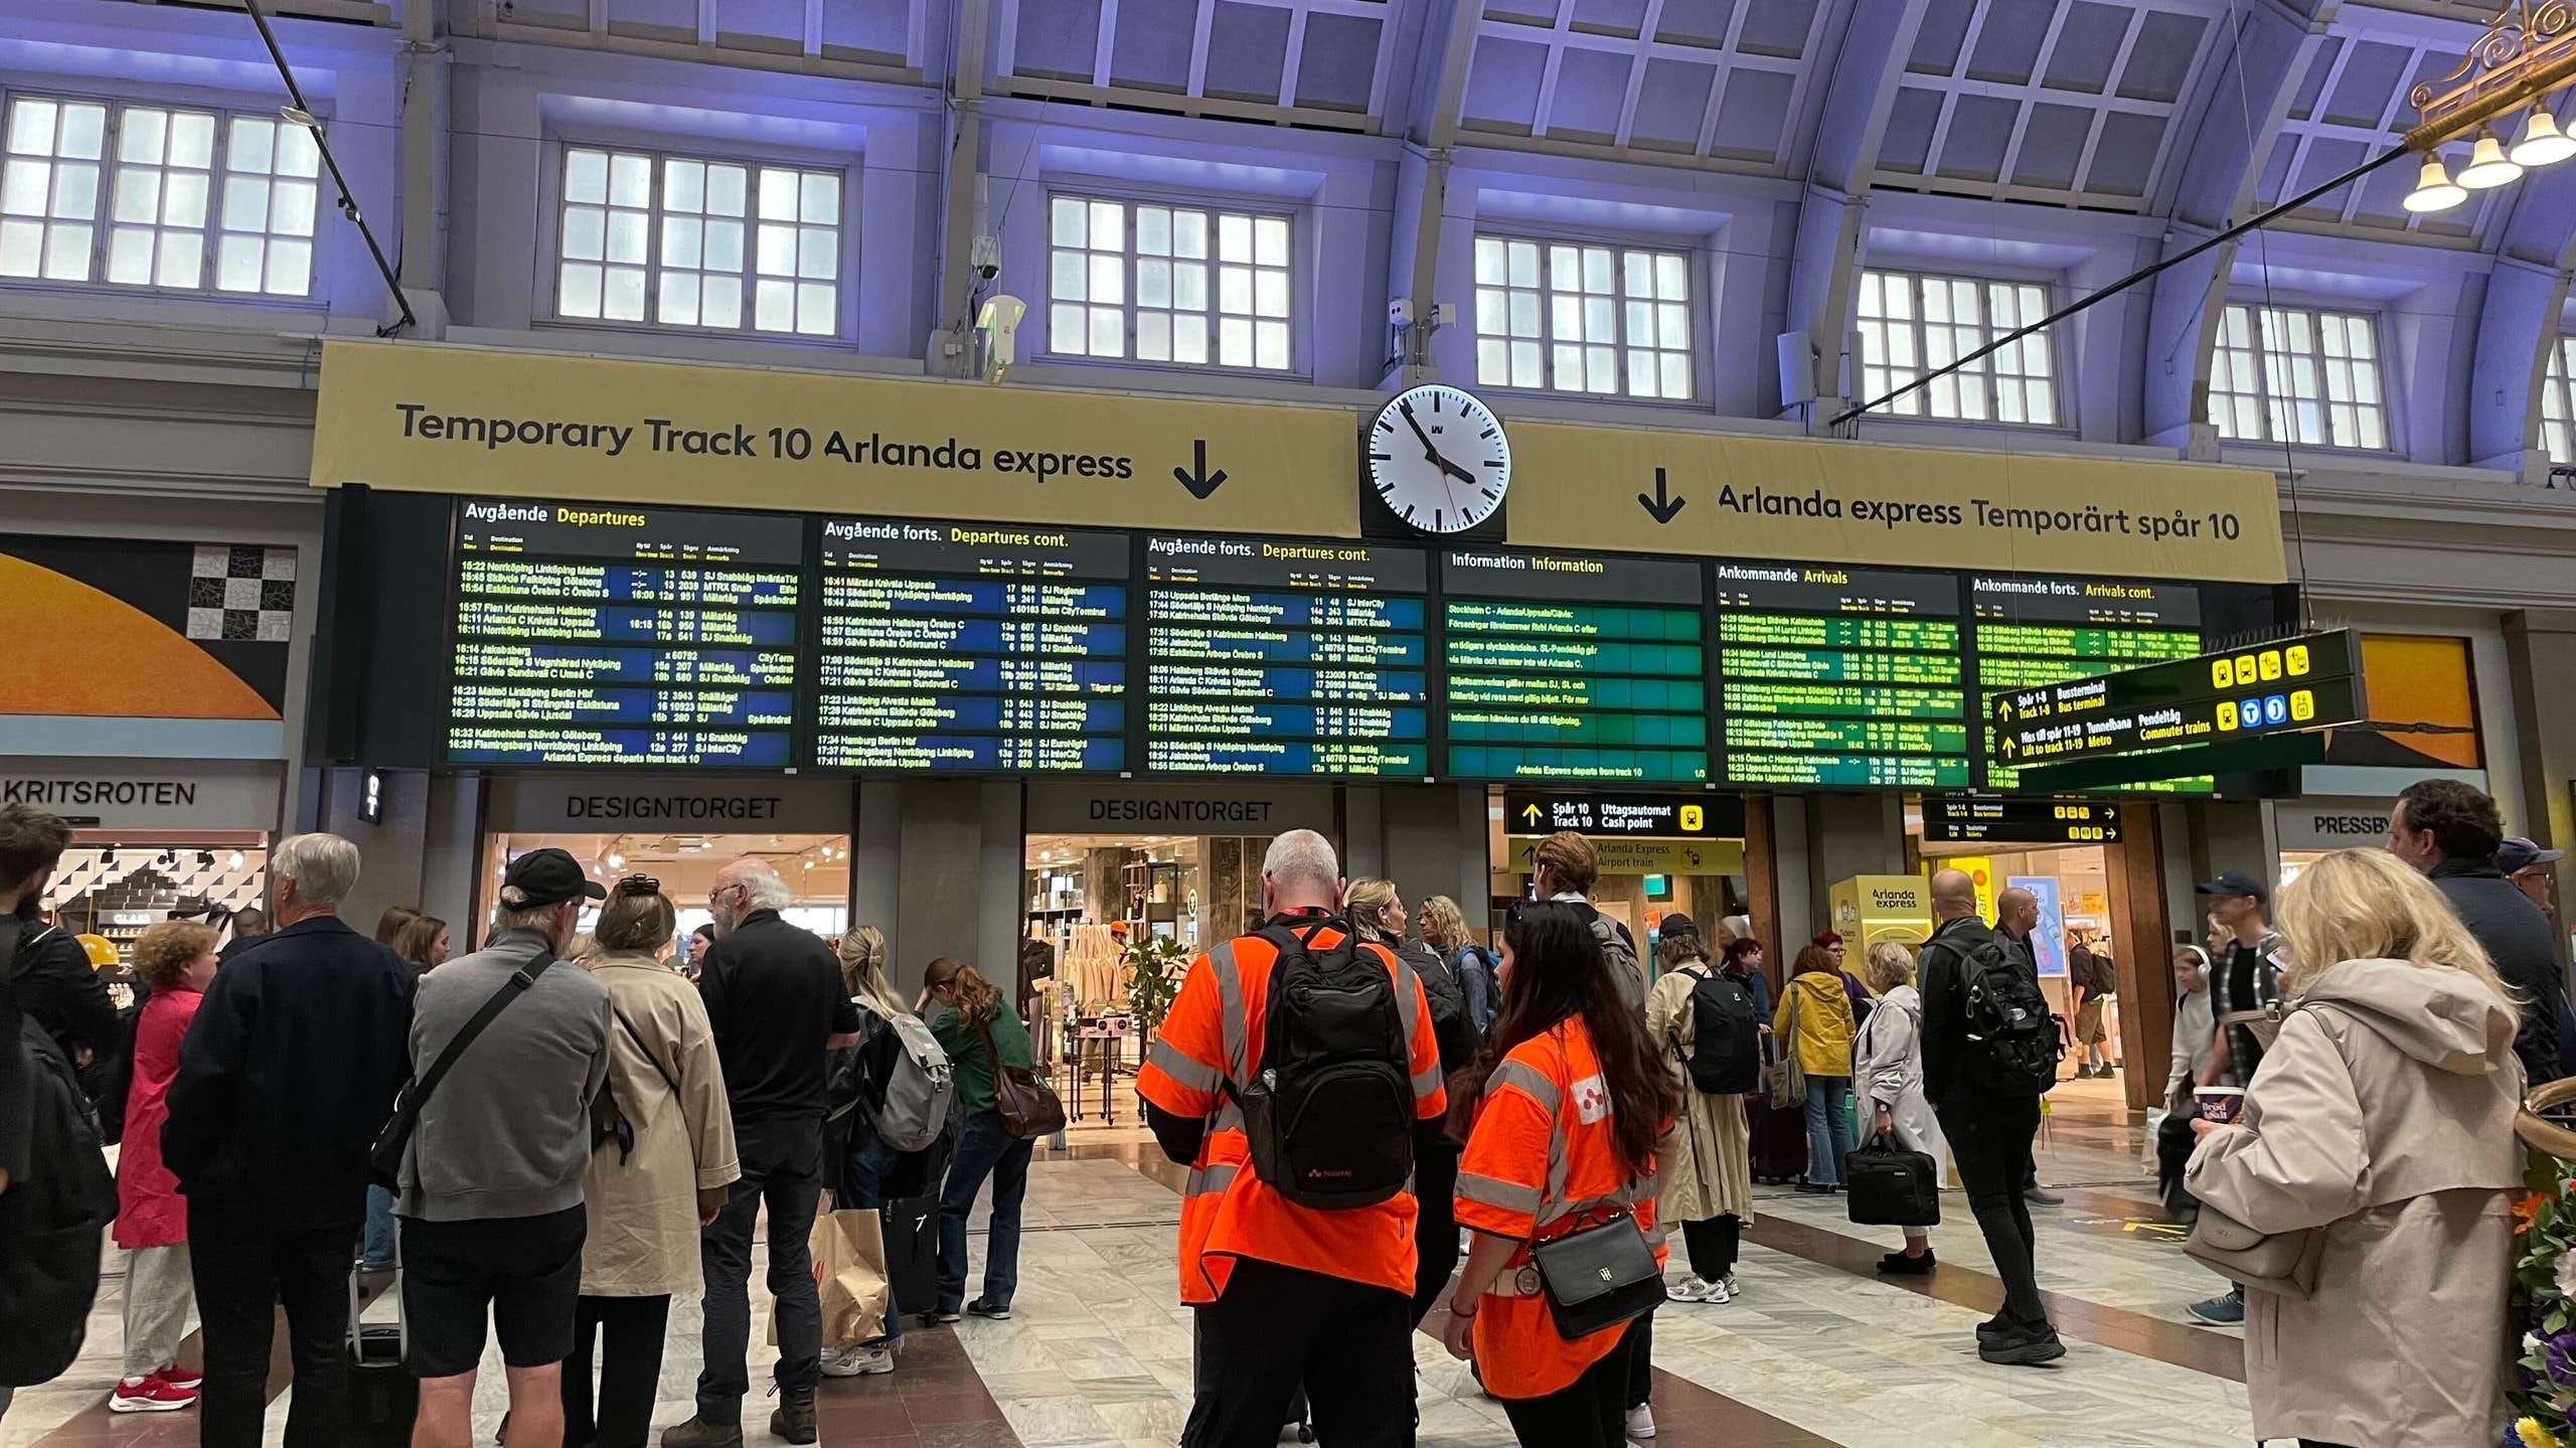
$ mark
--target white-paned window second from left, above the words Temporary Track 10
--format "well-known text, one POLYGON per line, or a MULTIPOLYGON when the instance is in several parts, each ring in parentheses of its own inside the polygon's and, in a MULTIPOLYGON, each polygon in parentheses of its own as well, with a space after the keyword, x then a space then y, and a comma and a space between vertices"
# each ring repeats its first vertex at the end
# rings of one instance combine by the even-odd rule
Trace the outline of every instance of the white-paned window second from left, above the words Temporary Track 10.
POLYGON ((564 147, 554 314, 840 332, 840 173, 564 147))

